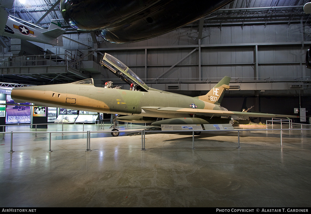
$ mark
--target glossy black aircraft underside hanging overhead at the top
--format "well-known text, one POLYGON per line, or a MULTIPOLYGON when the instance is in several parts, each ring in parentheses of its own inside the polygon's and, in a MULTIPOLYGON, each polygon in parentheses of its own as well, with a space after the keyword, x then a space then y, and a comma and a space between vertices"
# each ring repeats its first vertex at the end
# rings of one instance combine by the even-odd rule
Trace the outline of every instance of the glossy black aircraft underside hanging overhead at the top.
POLYGON ((129 43, 168 33, 232 1, 62 0, 60 11, 77 30, 100 30, 108 42, 129 43))

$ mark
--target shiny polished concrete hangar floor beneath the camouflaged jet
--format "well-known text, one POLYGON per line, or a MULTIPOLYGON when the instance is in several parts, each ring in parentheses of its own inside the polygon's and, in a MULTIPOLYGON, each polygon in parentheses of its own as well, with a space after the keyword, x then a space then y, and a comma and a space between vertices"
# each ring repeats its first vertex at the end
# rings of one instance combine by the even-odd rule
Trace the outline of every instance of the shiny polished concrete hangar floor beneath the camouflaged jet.
MULTIPOLYGON (((127 130, 137 128, 146 127, 127 130)), ((47 129, 56 130, 62 126, 47 129)), ((243 131, 241 148, 237 133, 202 133, 195 149, 191 133, 146 134, 145 151, 140 135, 127 134, 93 133, 87 152, 86 134, 52 133, 53 152, 47 152, 49 134, 16 133, 13 153, 6 134, 0 139, 0 207, 311 206, 310 131, 284 131, 283 147, 280 131, 243 131)))

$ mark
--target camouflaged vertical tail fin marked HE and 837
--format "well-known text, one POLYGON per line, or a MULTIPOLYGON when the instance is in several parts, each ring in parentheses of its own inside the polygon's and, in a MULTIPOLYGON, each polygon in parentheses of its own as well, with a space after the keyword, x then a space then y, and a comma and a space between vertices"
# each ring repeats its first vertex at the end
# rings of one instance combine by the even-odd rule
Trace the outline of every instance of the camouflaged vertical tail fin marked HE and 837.
POLYGON ((198 96, 197 98, 199 100, 202 100, 205 102, 210 102, 210 103, 213 103, 215 105, 220 105, 222 98, 225 95, 225 93, 224 93, 225 90, 229 89, 230 79, 231 78, 229 76, 225 76, 207 94, 205 94, 203 96, 198 96))

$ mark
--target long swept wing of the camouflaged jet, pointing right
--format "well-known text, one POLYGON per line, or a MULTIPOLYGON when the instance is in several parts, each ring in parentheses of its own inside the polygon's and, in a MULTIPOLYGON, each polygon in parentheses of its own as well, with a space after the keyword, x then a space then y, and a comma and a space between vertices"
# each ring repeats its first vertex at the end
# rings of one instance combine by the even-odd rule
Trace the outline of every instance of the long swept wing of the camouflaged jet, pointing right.
POLYGON ((177 107, 142 107, 142 109, 165 112, 165 113, 180 113, 180 114, 200 114, 206 116, 247 116, 247 117, 298 117, 293 115, 281 115, 281 114, 267 114, 267 113, 253 113, 253 112, 233 112, 233 111, 221 111, 221 110, 209 110, 198 108, 177 108, 177 107))

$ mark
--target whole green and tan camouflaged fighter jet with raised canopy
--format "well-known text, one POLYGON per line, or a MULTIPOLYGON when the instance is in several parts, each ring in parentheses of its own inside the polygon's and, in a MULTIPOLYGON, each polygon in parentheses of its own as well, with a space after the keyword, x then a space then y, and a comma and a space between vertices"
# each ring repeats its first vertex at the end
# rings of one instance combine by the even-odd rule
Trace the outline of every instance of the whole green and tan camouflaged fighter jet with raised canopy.
MULTIPOLYGON (((118 121, 162 124, 248 124, 248 117, 296 117, 266 113, 232 112, 220 106, 230 77, 225 76, 206 95, 189 97, 148 87, 128 66, 105 53, 100 62, 130 85, 130 90, 114 88, 108 82, 95 87, 93 79, 69 84, 28 86, 12 89, 14 102, 37 106, 70 108, 121 114, 118 121), (242 120, 232 120, 234 116, 242 120), (159 120, 160 119, 160 120, 159 120)), ((114 129, 112 135, 118 136, 114 129)))

